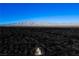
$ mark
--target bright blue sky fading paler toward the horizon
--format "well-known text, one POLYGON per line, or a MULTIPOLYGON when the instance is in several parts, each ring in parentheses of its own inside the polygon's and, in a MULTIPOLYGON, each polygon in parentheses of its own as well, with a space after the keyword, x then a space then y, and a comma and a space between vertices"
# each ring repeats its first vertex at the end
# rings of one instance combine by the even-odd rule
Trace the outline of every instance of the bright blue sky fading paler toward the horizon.
POLYGON ((79 23, 79 3, 0 3, 0 24, 79 23))

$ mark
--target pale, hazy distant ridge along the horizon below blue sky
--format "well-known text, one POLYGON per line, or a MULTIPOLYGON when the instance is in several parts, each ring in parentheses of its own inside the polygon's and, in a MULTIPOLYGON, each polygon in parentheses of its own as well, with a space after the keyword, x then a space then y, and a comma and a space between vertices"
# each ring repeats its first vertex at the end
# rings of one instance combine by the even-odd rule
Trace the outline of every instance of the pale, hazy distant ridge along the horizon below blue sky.
POLYGON ((49 23, 49 22, 17 22, 12 24, 3 24, 3 26, 79 26, 78 23, 49 23))

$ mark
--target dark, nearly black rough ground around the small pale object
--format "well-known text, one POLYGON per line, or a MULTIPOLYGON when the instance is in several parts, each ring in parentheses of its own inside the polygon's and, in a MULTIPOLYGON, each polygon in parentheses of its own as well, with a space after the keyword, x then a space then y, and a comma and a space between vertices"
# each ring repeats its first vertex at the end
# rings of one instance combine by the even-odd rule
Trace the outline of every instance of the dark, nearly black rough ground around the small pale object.
POLYGON ((79 28, 0 27, 0 56, 78 56, 79 28))

